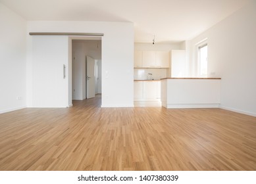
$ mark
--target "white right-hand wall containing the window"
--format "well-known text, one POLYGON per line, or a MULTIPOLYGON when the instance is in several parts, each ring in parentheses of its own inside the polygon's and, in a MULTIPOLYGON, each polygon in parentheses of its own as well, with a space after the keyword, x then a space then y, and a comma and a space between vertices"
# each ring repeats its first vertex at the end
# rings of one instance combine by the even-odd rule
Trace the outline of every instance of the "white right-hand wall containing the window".
MULTIPOLYGON (((208 39, 209 77, 221 77, 222 108, 256 116, 256 2, 191 40, 208 39), (211 74, 215 73, 215 74, 211 74)), ((193 52, 190 55, 193 65, 193 52)))

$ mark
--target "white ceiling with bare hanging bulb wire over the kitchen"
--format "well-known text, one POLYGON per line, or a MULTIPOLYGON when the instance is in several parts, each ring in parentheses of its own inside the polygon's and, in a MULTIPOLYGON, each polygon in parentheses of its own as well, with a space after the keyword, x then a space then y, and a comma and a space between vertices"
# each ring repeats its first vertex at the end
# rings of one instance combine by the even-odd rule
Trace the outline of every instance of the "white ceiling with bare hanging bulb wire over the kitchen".
POLYGON ((250 0, 0 0, 26 20, 134 22, 135 42, 192 39, 250 0))

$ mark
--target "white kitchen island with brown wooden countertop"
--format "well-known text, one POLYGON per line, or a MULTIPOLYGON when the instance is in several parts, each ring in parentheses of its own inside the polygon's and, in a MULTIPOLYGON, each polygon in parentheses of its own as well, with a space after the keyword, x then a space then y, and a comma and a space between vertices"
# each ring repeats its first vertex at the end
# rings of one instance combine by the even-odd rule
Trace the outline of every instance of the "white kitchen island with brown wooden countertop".
POLYGON ((165 108, 218 108, 221 78, 163 78, 161 103, 165 108))

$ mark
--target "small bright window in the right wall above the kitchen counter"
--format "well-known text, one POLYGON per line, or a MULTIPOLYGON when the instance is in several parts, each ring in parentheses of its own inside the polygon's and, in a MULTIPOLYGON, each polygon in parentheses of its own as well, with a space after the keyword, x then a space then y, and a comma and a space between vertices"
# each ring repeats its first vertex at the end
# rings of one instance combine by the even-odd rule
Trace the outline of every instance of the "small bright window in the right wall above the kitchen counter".
POLYGON ((198 47, 197 63, 199 76, 207 77, 207 43, 198 47))

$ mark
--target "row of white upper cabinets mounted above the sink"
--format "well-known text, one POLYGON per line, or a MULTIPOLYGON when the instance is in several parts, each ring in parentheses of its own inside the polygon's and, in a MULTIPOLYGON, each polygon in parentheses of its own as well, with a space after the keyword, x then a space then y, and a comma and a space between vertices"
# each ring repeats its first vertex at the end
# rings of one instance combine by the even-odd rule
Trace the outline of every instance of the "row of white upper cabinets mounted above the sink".
POLYGON ((169 68, 168 51, 134 51, 134 68, 169 68))

